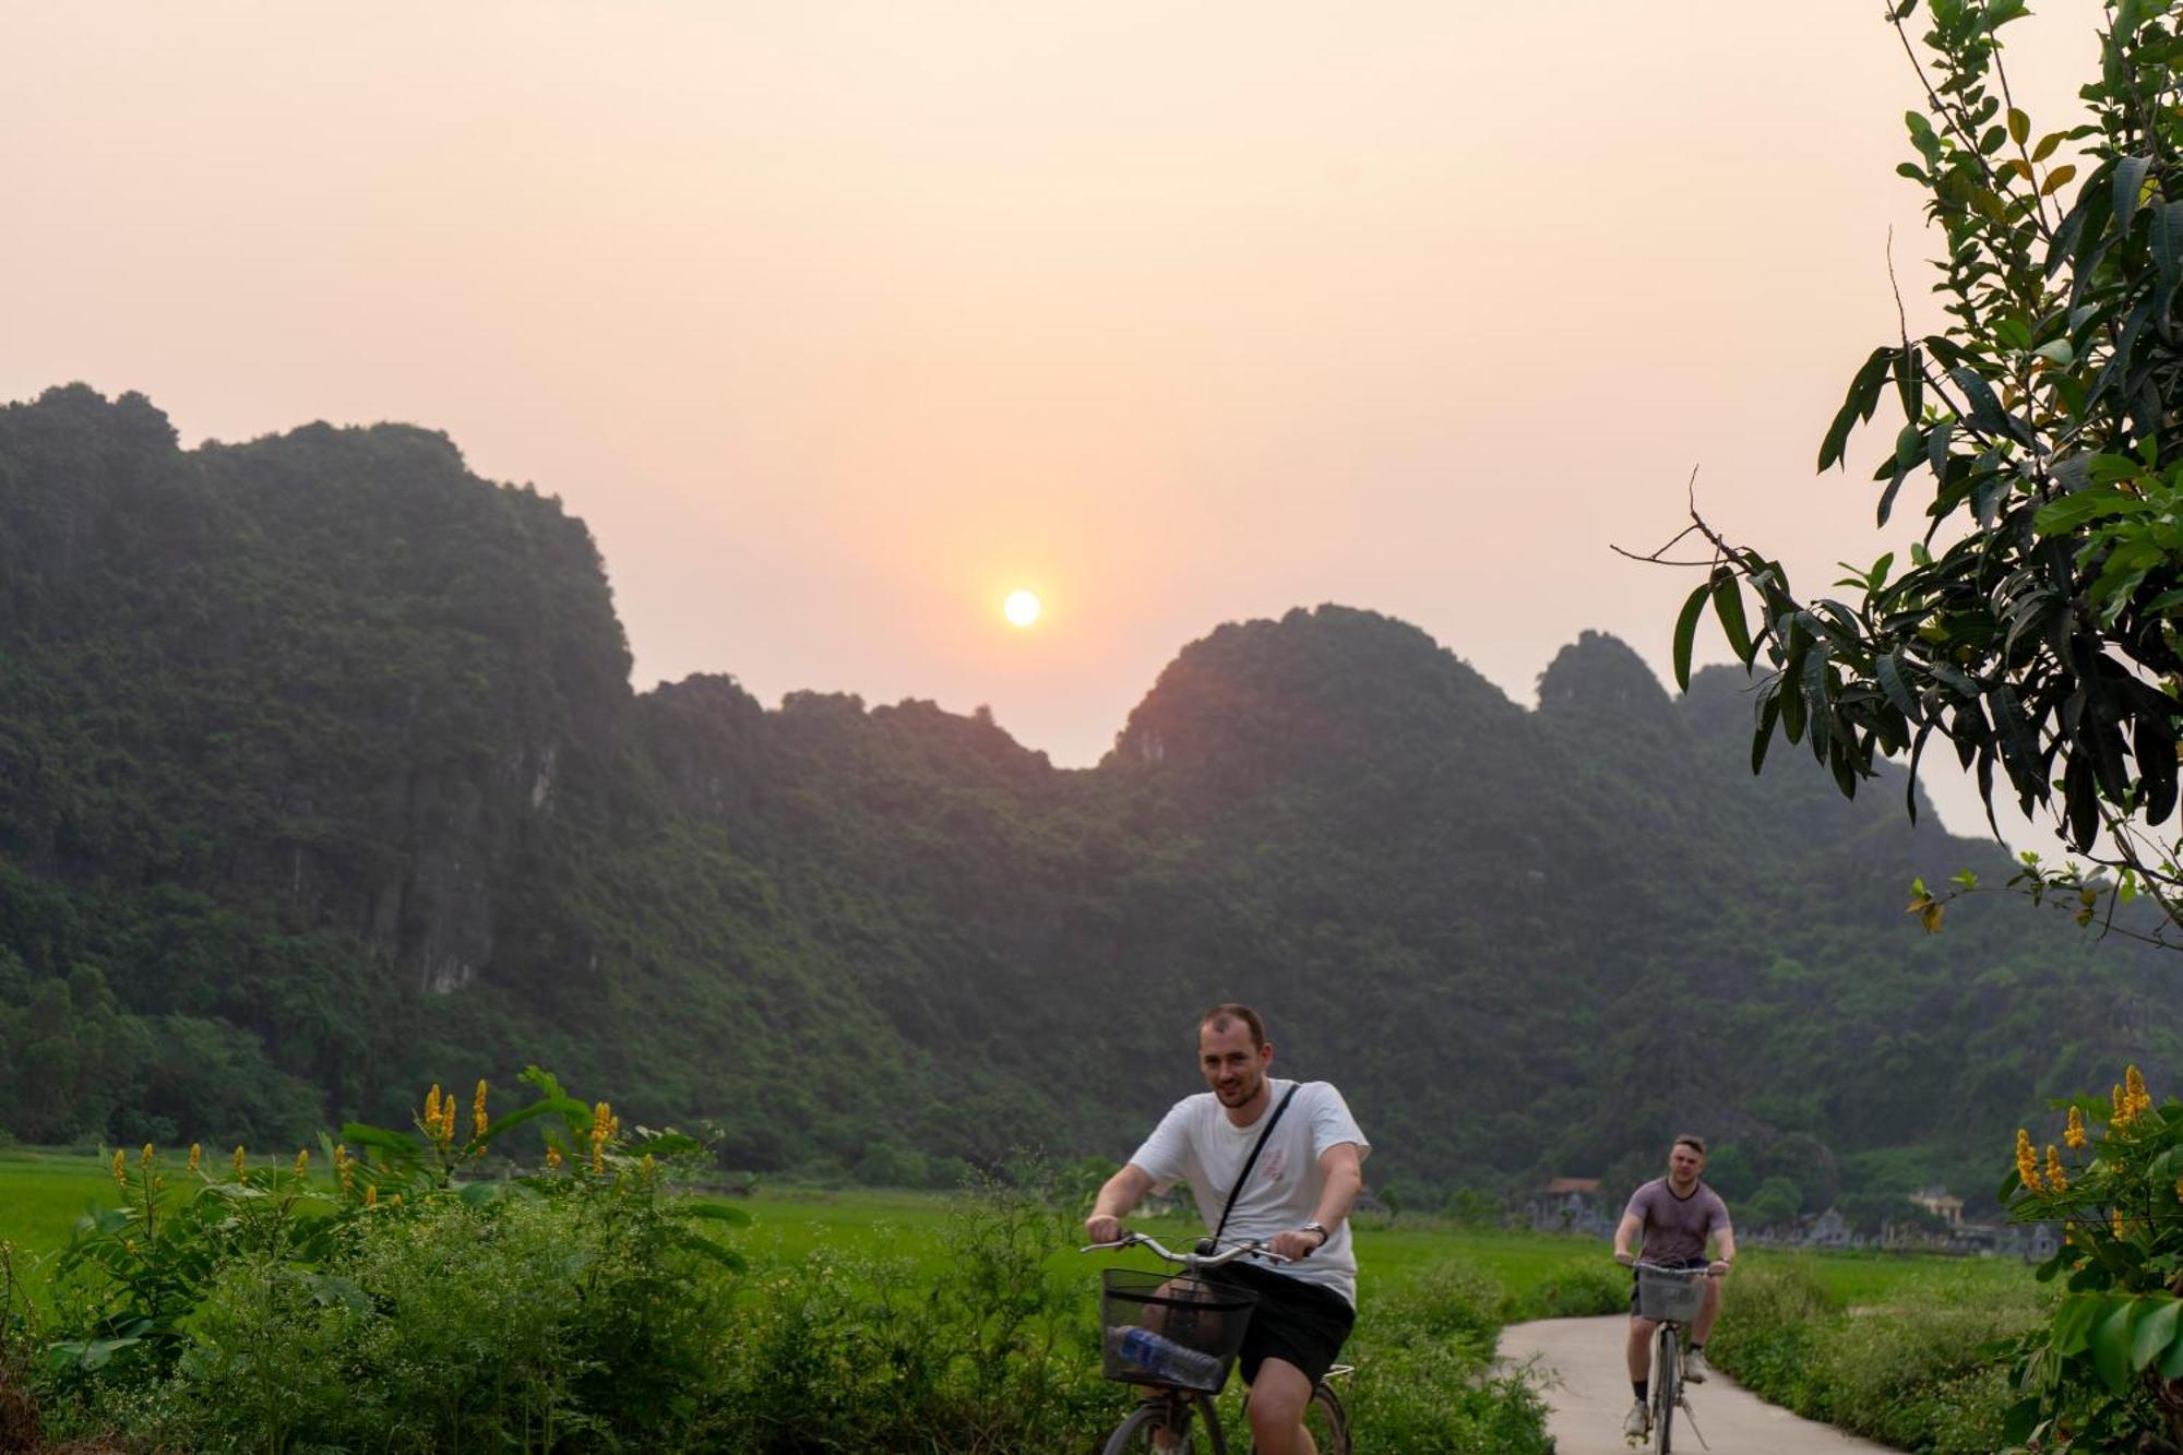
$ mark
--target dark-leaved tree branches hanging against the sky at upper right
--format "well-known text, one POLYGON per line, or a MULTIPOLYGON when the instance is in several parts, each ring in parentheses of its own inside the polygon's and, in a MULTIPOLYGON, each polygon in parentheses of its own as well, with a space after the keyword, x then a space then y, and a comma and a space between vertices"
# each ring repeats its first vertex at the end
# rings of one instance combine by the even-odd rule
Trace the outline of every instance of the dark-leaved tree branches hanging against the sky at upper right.
MULTIPOLYGON (((2183 24, 2166 4, 2104 11, 2083 116, 2041 129, 2004 66, 2024 0, 1890 4, 1925 85, 1925 107, 1906 118, 1914 159, 1899 173, 1945 242, 1932 284, 1945 321, 1912 336, 1906 317, 1901 336, 1871 352, 1818 468, 1840 463, 1893 395, 1901 424, 1873 474, 1877 516, 1884 527, 1901 487, 1923 478, 1925 529, 1901 570, 1893 551, 1845 566, 1836 585, 1851 596, 1838 601, 1799 596, 1777 559, 1696 518, 1711 559, 1677 625, 1677 671, 1687 677, 1711 607, 1735 655, 1764 673, 1753 771, 1779 732, 1851 795, 1884 756, 1908 754, 1914 778, 1939 734, 1976 769, 1989 813, 2000 778, 2093 865, 2030 861, 2011 887, 2080 924, 2172 946, 2183 24), (2163 918, 2118 915, 2139 894, 2163 918)), ((1976 874, 1960 880, 1976 889, 1976 874)), ((1939 928, 1954 898, 1919 887, 1912 911, 1939 928)))

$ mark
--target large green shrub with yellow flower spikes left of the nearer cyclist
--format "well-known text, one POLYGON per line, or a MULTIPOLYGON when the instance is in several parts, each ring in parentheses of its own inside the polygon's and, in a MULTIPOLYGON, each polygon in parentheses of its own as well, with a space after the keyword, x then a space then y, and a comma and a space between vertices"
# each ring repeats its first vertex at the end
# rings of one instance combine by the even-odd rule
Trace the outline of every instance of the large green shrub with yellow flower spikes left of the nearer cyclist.
POLYGON ((116 1154, 120 1206, 55 1265, 50 1422, 159 1448, 681 1431, 727 1306, 696 1274, 742 1265, 705 1226, 749 1219, 670 1195, 701 1143, 624 1134, 544 1070, 524 1081, 537 1097, 498 1121, 478 1081, 467 1134, 434 1086, 410 1132, 351 1123, 317 1160, 116 1154), (489 1162, 524 1123, 541 1162, 489 1162))

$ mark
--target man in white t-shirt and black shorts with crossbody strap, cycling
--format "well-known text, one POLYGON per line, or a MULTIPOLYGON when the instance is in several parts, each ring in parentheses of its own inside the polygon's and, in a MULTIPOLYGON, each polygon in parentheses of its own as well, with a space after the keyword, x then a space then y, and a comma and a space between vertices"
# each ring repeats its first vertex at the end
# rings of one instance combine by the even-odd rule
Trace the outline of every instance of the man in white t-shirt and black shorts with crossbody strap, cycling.
POLYGON ((1122 1237, 1146 1193, 1190 1182, 1207 1228, 1262 1239, 1288 1263, 1238 1258, 1207 1269, 1257 1296, 1240 1352, 1260 1455, 1314 1455, 1303 1409, 1356 1324, 1358 1263, 1349 1204, 1371 1143, 1325 1081, 1266 1075, 1273 1042, 1249 1005, 1198 1018, 1198 1070, 1209 1092, 1177 1101, 1098 1191, 1085 1234, 1122 1237), (1268 1121, 1271 1119, 1271 1121, 1268 1121), (1249 1167, 1249 1184, 1236 1186, 1249 1167))

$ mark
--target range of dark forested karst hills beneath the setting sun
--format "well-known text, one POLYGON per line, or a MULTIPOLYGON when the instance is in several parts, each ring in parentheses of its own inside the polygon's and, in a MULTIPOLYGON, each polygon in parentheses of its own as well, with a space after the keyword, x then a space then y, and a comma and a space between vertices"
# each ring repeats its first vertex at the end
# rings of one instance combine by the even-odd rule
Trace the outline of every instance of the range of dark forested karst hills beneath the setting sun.
POLYGON ((583 524, 441 435, 181 450, 55 389, 0 411, 0 1125, 288 1140, 539 1060, 736 1167, 947 1182, 1122 1156, 1238 996, 1397 1195, 1696 1127, 1816 1208, 1987 1186, 2041 1097, 2183 1064, 2159 957, 1919 933, 1912 874, 2002 852, 1753 780, 1742 688, 1587 634, 1526 710, 1299 610, 1063 771, 919 701, 633 693, 583 524))

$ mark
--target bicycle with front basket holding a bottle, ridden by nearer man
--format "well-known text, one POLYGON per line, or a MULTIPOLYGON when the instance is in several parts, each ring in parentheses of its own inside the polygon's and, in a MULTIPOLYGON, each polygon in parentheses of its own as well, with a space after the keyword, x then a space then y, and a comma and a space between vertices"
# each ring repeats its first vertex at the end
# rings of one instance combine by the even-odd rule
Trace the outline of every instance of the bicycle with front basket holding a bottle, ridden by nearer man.
MULTIPOLYGON (((1198 1243, 1207 1247, 1212 1239, 1198 1243)), ((1111 1267, 1100 1280, 1100 1328, 1105 1344, 1105 1374, 1116 1383, 1144 1385, 1144 1400, 1129 1411, 1107 1435, 1100 1455, 1194 1455, 1194 1422, 1205 1424, 1205 1446, 1209 1455, 1227 1455, 1227 1433, 1220 1429, 1220 1411, 1214 1396, 1227 1383, 1236 1350, 1242 1348, 1244 1328, 1251 1322, 1251 1306, 1257 1302, 1246 1289, 1205 1282, 1205 1269, 1233 1263, 1246 1254, 1260 1254, 1286 1263, 1260 1241, 1229 1241, 1220 1252, 1179 1254, 1144 1232, 1124 1234, 1116 1243, 1092 1243, 1083 1252, 1148 1247, 1168 1263, 1179 1265, 1177 1274, 1144 1274, 1137 1269, 1111 1267), (1157 1335, 1164 1344, 1181 1346, 1185 1355, 1201 1355, 1190 1372, 1148 1368, 1124 1346, 1146 1344, 1142 1335, 1157 1335), (1207 1361, 1209 1359, 1209 1361, 1207 1361)), ((1303 1427, 1312 1433, 1319 1455, 1349 1455, 1349 1413, 1340 1396, 1327 1383, 1349 1374, 1353 1365, 1338 1363, 1327 1376, 1312 1385, 1312 1398, 1303 1411, 1303 1427)), ((1249 1396, 1244 1409, 1251 1407, 1249 1396)), ((1255 1448, 1255 1446, 1253 1446, 1255 1448)))

